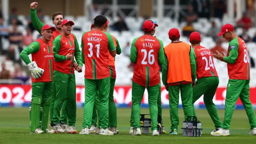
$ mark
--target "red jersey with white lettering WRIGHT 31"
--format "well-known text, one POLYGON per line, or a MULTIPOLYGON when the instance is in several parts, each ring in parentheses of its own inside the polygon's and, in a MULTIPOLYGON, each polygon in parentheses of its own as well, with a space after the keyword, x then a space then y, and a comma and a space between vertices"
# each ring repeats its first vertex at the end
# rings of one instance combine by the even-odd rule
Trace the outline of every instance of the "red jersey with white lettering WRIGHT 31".
POLYGON ((110 77, 109 50, 116 50, 112 36, 99 30, 85 32, 81 47, 85 61, 84 78, 98 80, 110 77))

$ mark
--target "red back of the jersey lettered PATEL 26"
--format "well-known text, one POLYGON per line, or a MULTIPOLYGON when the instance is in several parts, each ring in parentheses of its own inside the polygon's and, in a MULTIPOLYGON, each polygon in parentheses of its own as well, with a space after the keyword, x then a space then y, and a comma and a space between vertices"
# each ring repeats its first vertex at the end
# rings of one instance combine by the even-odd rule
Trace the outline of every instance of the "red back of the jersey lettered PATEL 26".
POLYGON ((157 38, 144 35, 135 42, 137 61, 132 80, 141 86, 155 86, 160 83, 158 52, 160 42, 157 38))

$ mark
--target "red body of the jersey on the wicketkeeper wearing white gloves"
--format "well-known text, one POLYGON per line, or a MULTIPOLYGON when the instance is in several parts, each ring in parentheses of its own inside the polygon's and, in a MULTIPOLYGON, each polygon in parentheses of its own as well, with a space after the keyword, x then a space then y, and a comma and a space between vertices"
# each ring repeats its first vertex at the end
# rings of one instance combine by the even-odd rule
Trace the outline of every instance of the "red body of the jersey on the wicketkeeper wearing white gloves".
POLYGON ((52 50, 52 42, 46 44, 41 38, 36 40, 40 44, 40 49, 36 53, 32 53, 32 61, 35 61, 39 68, 44 70, 44 74, 41 78, 34 79, 33 82, 52 82, 53 70, 54 70, 54 56, 52 50))

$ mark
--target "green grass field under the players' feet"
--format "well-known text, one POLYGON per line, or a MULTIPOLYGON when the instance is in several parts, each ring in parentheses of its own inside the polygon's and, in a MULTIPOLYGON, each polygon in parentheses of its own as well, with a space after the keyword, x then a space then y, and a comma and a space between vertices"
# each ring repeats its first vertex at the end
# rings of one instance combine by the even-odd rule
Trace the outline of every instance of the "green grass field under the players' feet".
MULTIPOLYGON (((224 120, 224 110, 218 110, 220 120, 224 120)), ((142 134, 142 136, 130 136, 130 108, 119 108, 118 130, 120 134, 114 136, 101 135, 79 135, 79 134, 30 134, 30 121, 28 108, 0 108, 0 144, 249 144, 254 143, 256 136, 250 136, 250 125, 246 112, 244 110, 235 110, 230 127, 230 136, 214 137, 210 132, 214 129, 214 124, 208 116, 206 110, 196 110, 198 120, 202 122, 202 137, 184 137, 182 136, 182 121, 184 120, 183 111, 179 110, 180 125, 178 135, 169 135, 170 132, 170 115, 169 109, 163 109, 163 122, 168 134, 160 136, 151 136, 151 134, 142 134)), ((142 114, 148 114, 148 109, 142 109, 142 114)), ((78 132, 82 129, 83 109, 77 109, 76 129, 78 132)))

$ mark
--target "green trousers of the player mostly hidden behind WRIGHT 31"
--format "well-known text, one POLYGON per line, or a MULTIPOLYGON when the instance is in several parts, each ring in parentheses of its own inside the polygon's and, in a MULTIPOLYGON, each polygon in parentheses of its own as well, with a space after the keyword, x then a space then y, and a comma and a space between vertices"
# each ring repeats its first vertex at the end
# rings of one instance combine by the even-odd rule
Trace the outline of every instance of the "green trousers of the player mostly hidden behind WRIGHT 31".
MULTIPOLYGON (((117 126, 117 115, 116 115, 116 104, 114 102, 114 87, 116 79, 110 79, 110 93, 109 93, 109 102, 108 102, 108 113, 109 113, 109 126, 110 128, 117 126)), ((97 92, 96 101, 94 102, 94 108, 92 113, 92 125, 97 126, 97 106, 100 102, 99 93, 97 92)))

